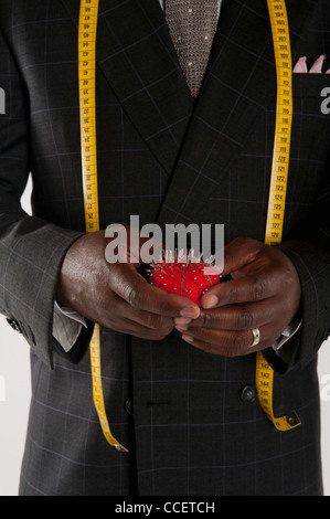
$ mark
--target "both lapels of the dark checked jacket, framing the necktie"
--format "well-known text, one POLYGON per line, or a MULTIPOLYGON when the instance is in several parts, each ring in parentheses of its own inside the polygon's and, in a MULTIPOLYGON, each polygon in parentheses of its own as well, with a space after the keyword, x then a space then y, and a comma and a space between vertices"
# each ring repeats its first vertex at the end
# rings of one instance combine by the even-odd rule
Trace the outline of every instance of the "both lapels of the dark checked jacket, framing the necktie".
MULTIPOLYGON (((61 0, 78 23, 79 0, 61 0)), ((313 2, 287 0, 295 45, 313 2)), ((158 223, 193 221, 219 189, 259 114, 275 108, 276 68, 266 0, 223 0, 196 103, 158 0, 100 0, 97 63, 170 177, 158 223)))

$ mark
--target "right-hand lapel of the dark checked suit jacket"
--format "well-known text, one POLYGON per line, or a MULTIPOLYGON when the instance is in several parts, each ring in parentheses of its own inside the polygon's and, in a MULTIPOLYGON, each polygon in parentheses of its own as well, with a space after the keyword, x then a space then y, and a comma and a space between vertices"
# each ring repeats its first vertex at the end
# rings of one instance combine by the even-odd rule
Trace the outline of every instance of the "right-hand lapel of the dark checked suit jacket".
MULTIPOLYGON (((315 4, 300 0, 286 3, 295 55, 304 21, 315 4)), ((235 158, 244 152, 246 137, 260 113, 272 105, 275 110, 275 103, 276 66, 267 1, 224 0, 205 80, 158 216, 160 225, 189 224, 195 221, 194 214, 207 214, 212 191, 221 188, 235 158)))

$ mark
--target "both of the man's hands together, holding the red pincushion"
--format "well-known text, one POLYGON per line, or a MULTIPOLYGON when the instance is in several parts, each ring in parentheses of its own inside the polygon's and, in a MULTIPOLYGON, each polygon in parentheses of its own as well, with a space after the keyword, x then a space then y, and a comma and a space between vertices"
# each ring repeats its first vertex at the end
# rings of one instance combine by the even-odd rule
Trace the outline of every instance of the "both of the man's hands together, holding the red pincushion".
POLYGON ((270 347, 299 310, 300 282, 292 263, 262 242, 241 237, 225 246, 223 276, 233 279, 209 289, 201 309, 149 285, 137 272, 139 251, 129 245, 127 263, 107 263, 108 243, 104 232, 77 240, 64 258, 57 288, 61 305, 106 328, 161 340, 175 326, 191 346, 236 357, 270 347), (256 327, 262 340, 252 349, 256 327))

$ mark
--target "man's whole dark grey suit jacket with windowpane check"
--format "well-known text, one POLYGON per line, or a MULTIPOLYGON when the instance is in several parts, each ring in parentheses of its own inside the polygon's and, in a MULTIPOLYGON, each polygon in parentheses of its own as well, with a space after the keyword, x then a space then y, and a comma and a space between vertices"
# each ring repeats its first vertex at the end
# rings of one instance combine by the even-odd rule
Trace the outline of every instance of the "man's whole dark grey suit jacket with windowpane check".
MULTIPOLYGON (((330 53, 328 0, 287 0, 294 61, 330 53)), ((275 127, 266 0, 227 0, 196 103, 158 0, 100 0, 97 137, 102 227, 224 223, 264 240, 275 127)), ((77 78, 78 0, 0 3, 0 310, 29 341, 32 403, 20 494, 319 495, 317 351, 330 327, 328 75, 294 77, 284 241, 302 287, 302 328, 276 370, 279 433, 254 394, 255 356, 214 357, 171 333, 149 342, 102 330, 111 449, 92 401, 88 332, 71 356, 52 338, 62 260, 84 232, 77 78), (20 208, 29 171, 33 210, 20 208), (242 391, 249 386, 252 391, 242 391)), ((329 64, 330 66, 330 64, 329 64)))

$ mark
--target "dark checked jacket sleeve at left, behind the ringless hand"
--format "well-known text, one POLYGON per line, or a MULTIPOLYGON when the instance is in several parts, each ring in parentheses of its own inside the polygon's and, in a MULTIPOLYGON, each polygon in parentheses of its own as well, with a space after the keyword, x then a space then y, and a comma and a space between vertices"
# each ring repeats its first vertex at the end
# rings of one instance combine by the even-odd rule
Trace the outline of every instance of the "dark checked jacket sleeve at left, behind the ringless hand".
POLYGON ((20 205, 30 172, 29 93, 0 29, 0 313, 49 366, 57 276, 82 233, 29 216, 20 205))

